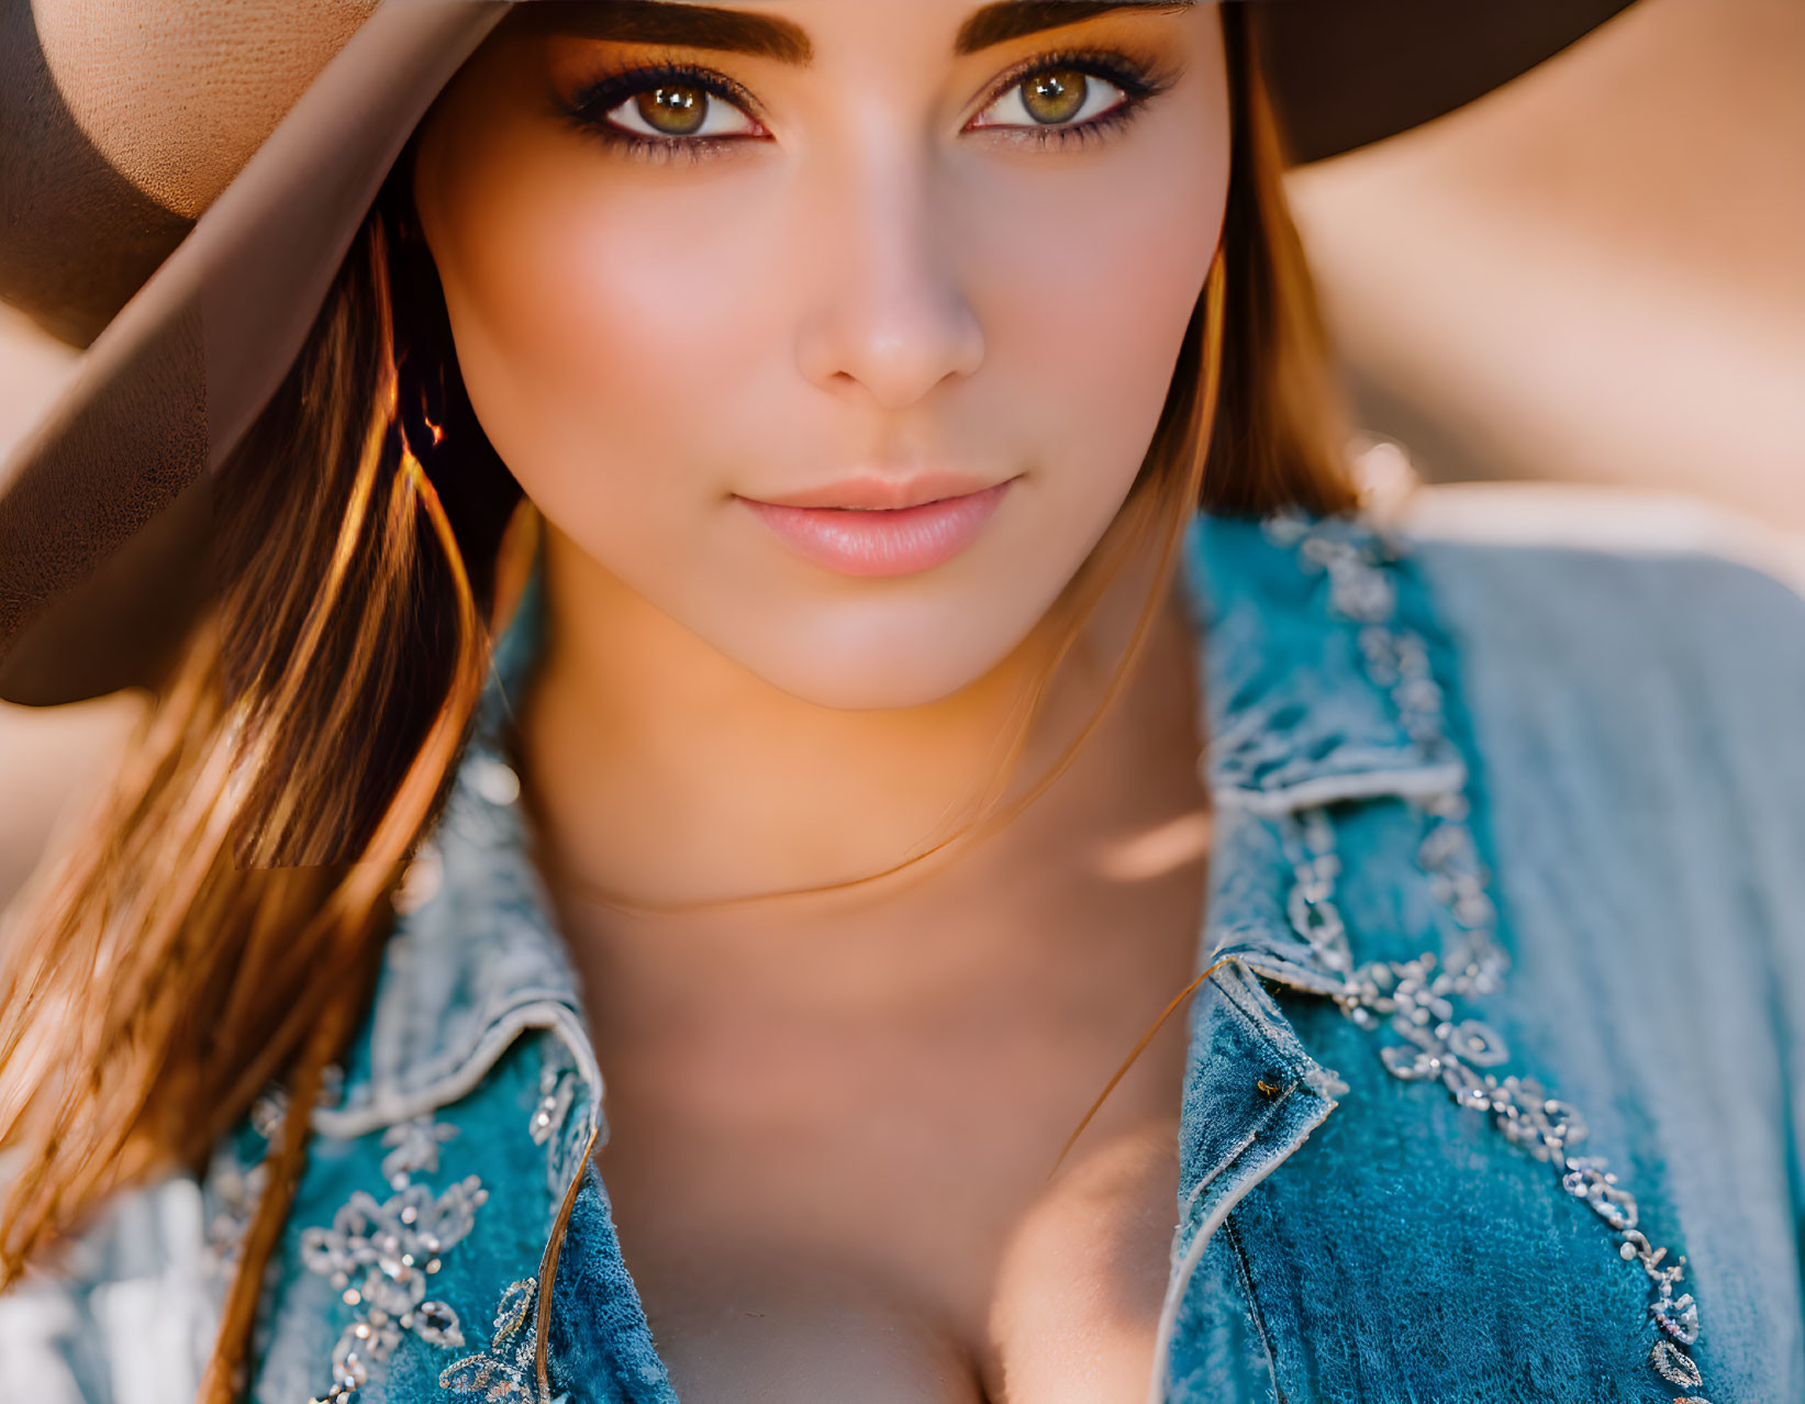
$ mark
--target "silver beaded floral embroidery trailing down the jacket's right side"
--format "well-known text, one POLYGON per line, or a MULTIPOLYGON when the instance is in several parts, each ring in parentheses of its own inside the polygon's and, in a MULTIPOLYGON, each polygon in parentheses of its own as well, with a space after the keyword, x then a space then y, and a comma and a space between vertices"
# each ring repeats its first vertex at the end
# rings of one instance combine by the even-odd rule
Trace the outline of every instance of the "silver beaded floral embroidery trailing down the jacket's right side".
MULTIPOLYGON (((1442 744, 1440 688, 1430 675, 1424 641, 1392 624, 1397 590, 1383 568, 1381 547, 1370 540, 1318 534, 1291 516, 1271 520, 1267 536, 1298 547, 1307 567, 1328 572, 1330 606, 1363 624, 1359 644, 1368 677, 1392 695, 1406 734, 1419 745, 1442 744)), ((1675 1296, 1686 1256, 1668 1263, 1668 1251, 1653 1247, 1635 1227, 1635 1196, 1603 1157, 1569 1153, 1587 1139, 1585 1119, 1574 1106, 1550 1097, 1534 1077, 1482 1072, 1502 1065, 1509 1050, 1491 1025, 1462 1018, 1453 1000, 1496 993, 1509 958, 1493 937, 1496 911, 1466 827, 1466 796, 1448 792, 1417 803, 1428 819, 1417 861, 1433 895, 1464 933, 1446 964, 1433 951, 1415 960, 1354 964, 1334 902, 1339 859, 1325 808, 1303 810, 1282 823, 1294 872, 1291 926, 1309 944, 1318 969, 1341 982, 1334 996, 1341 1012, 1361 1029, 1397 1036, 1399 1041, 1379 1048, 1392 1076, 1439 1079, 1457 1104, 1487 1113, 1513 1146, 1552 1166, 1561 1189, 1585 1202, 1617 1234, 1617 1254, 1637 1263, 1650 1281, 1648 1314, 1662 1332, 1650 1364, 1668 1384, 1697 1390, 1704 1375, 1686 1348, 1699 1339, 1699 1307, 1689 1292, 1675 1296)), ((1677 1395, 1673 1404, 1709 1400, 1688 1393, 1677 1395)))

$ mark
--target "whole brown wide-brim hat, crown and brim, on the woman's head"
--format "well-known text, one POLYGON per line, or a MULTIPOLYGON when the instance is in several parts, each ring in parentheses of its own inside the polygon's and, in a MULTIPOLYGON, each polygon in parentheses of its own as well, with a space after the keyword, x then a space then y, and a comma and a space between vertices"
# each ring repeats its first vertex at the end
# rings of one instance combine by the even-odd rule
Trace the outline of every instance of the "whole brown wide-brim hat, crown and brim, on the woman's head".
MULTIPOLYGON (((572 2, 0 0, 0 298, 87 346, 0 467, 0 700, 159 675, 209 587, 211 473, 413 128, 514 4, 572 2)), ((1254 7, 1291 152, 1318 161, 1630 0, 1227 2, 1254 7)))

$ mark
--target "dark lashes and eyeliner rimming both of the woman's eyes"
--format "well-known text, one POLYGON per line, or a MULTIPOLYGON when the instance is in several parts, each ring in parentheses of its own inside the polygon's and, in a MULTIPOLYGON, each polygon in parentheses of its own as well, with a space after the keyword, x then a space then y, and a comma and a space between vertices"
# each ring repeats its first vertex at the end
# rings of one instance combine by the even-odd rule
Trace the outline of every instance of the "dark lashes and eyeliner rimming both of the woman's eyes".
MULTIPOLYGON (((1029 79, 1038 78, 1043 72, 1061 70, 1078 70, 1092 78, 1101 78, 1103 81, 1121 88, 1123 99, 1108 112, 1070 126, 1031 128, 998 125, 978 130, 1005 134, 1005 139, 1034 146, 1036 150, 1047 146, 1083 146, 1101 141, 1114 130, 1126 126, 1139 115, 1148 99, 1157 97, 1171 87, 1168 78, 1157 76, 1150 67, 1128 58, 1126 54, 1105 52, 1097 49, 1069 49, 1052 54, 1040 54, 1004 74, 978 106, 978 112, 987 112, 998 99, 1005 97, 1029 79)), ((753 121, 758 121, 756 103, 745 88, 724 74, 709 69, 699 69, 690 63, 643 63, 619 69, 585 85, 574 99, 561 103, 563 115, 585 135, 594 135, 608 146, 619 150, 623 155, 652 164, 666 161, 706 161, 711 155, 720 155, 724 148, 733 146, 735 143, 749 141, 749 137, 648 137, 641 132, 628 132, 608 121, 606 114, 621 103, 662 85, 700 88, 709 94, 709 97, 733 103, 753 121)))

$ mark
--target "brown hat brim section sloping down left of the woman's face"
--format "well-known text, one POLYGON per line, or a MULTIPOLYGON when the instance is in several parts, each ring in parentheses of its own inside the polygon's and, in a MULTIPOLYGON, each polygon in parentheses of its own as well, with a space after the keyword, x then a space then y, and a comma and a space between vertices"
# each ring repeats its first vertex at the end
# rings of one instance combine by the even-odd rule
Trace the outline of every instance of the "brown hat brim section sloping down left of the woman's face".
POLYGON ((159 677, 208 587, 211 473, 280 386, 426 108, 509 7, 377 5, 83 354, 0 473, 0 700, 159 677))

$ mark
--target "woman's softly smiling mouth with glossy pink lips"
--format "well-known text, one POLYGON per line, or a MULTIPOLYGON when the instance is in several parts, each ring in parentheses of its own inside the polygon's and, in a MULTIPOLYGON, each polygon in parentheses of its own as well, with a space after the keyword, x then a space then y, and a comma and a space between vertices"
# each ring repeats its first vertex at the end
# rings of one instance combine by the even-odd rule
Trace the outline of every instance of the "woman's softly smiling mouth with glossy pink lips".
POLYGON ((803 559, 845 576, 912 576, 977 541, 1013 482, 863 478, 783 502, 740 502, 803 559), (948 493, 948 485, 964 491, 948 493))

